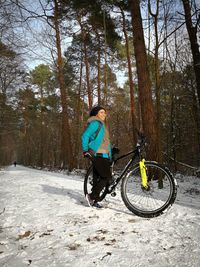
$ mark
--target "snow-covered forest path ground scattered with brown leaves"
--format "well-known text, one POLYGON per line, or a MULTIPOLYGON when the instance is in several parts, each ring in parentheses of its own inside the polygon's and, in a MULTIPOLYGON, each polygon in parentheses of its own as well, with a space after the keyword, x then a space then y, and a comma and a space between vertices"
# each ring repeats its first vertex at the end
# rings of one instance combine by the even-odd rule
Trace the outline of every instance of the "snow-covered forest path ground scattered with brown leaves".
POLYGON ((0 171, 1 267, 200 266, 200 178, 181 177, 160 217, 130 213, 120 194, 87 207, 83 177, 10 166, 0 171))

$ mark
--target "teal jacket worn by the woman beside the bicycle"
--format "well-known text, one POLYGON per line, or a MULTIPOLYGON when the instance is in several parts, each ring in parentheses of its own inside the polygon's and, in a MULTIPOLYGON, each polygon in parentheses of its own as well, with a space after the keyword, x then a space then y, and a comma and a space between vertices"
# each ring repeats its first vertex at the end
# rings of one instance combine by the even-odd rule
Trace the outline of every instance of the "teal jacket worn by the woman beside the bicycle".
MULTIPOLYGON (((85 129, 85 131, 82 134, 81 140, 82 140, 82 149, 83 151, 92 150, 94 155, 98 151, 105 134, 105 126, 104 123, 101 122, 98 119, 91 118, 88 120, 88 125, 85 129), (99 124, 102 124, 99 129, 99 124), (99 129, 99 131, 98 131, 99 129), (98 131, 98 134, 97 134, 98 131)), ((102 154, 102 157, 104 158, 111 158, 111 147, 109 145, 108 147, 109 155, 108 154, 102 154)))

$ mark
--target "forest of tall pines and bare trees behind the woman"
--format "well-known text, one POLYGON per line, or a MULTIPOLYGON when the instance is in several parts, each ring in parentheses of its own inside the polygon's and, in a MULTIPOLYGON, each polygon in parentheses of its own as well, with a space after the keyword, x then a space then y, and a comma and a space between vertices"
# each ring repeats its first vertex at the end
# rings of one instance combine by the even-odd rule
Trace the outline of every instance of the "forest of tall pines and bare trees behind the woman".
POLYGON ((200 166, 198 0, 0 0, 0 166, 85 168, 90 109, 125 153, 200 166))

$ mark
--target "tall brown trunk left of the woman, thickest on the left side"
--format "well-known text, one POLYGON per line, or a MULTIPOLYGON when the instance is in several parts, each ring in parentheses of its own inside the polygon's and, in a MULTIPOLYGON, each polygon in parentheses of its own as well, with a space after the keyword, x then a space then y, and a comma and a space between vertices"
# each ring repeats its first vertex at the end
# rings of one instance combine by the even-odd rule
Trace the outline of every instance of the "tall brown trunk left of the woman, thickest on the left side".
POLYGON ((60 43, 60 29, 58 21, 58 2, 54 0, 55 10, 54 10, 54 27, 56 32, 56 48, 57 48, 57 69, 58 69, 58 80, 60 86, 61 94, 61 105, 62 105, 62 141, 61 141, 61 154, 63 167, 68 167, 71 171, 74 167, 73 164, 73 154, 72 154, 72 144, 71 144, 71 131, 69 125, 69 115, 68 115, 68 104, 67 104, 67 92, 65 88, 64 73, 63 73, 63 61, 61 53, 61 43, 60 43))

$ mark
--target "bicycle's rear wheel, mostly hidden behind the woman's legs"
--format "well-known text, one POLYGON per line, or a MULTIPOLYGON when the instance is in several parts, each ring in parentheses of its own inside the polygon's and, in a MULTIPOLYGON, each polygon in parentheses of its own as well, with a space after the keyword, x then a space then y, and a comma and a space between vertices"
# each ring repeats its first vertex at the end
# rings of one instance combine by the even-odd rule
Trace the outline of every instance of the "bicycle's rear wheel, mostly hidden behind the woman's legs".
MULTIPOLYGON (((87 170, 87 173, 84 178, 84 183, 83 183, 83 190, 84 190, 85 196, 92 192, 91 191, 92 182, 93 182, 93 171, 92 171, 92 165, 91 165, 89 169, 87 170)), ((107 188, 105 187, 99 195, 98 202, 101 202, 106 197, 106 195, 107 195, 107 188)))

